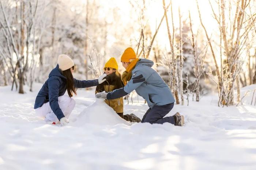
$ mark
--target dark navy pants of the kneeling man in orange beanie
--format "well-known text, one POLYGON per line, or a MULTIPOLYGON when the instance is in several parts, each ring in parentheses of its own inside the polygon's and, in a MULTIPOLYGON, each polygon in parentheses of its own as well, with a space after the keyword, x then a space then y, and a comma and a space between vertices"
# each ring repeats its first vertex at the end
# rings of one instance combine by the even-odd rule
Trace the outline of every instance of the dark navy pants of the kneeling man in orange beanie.
POLYGON ((173 108, 174 103, 162 105, 162 106, 154 106, 153 108, 149 108, 145 115, 143 116, 141 122, 149 122, 163 124, 165 122, 169 122, 175 125, 175 120, 173 116, 164 117, 169 113, 173 108), (164 117, 164 118, 163 118, 164 117))

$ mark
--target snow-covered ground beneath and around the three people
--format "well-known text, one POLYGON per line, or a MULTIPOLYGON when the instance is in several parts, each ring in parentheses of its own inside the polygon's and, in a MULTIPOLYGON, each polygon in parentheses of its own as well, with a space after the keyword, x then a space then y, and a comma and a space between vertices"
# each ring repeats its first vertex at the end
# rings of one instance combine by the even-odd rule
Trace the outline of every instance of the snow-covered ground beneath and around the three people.
MULTIPOLYGON (((0 170, 256 169, 252 92, 238 107, 218 107, 214 95, 174 105, 168 115, 178 111, 186 123, 176 127, 125 123, 102 101, 95 102, 93 90, 82 89, 74 97, 70 123, 60 127, 35 117, 40 88, 36 84, 34 92, 18 94, 0 87, 0 170)), ((243 88, 242 95, 255 88, 243 88)), ((124 112, 142 118, 147 109, 135 96, 124 112)))

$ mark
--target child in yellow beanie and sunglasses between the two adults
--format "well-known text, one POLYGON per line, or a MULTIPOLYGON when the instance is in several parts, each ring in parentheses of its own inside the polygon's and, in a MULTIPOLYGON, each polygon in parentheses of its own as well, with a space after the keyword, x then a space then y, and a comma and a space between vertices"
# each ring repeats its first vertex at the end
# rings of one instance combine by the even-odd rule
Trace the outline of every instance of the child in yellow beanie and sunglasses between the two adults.
MULTIPOLYGON (((106 81, 96 87, 95 94, 99 92, 112 92, 115 89, 123 88, 124 83, 121 79, 121 74, 118 72, 118 64, 114 57, 110 58, 104 66, 104 72, 107 74, 106 81)), ((131 122, 140 122, 140 119, 135 115, 124 115, 123 97, 113 100, 105 100, 105 103, 114 109, 114 111, 123 119, 131 122)))

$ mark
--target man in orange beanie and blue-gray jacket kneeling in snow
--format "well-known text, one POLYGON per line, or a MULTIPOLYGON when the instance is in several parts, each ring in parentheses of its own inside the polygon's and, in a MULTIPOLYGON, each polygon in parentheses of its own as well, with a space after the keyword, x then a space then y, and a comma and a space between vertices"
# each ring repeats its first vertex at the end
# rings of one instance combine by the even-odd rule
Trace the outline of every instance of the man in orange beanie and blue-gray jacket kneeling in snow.
POLYGON ((154 62, 148 59, 136 58, 136 54, 131 47, 124 51, 121 62, 126 69, 122 75, 125 87, 109 93, 97 93, 96 97, 112 100, 123 97, 135 90, 139 96, 147 101, 148 107, 150 107, 143 116, 142 123, 163 124, 169 122, 182 126, 184 116, 180 113, 177 112, 173 116, 164 117, 172 110, 175 100, 170 88, 161 76, 151 68, 154 62))

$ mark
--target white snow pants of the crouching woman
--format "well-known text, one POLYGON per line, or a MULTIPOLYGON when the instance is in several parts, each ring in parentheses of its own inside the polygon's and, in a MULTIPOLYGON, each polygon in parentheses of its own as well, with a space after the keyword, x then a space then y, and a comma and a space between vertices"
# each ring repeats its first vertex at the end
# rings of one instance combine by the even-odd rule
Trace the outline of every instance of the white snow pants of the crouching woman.
MULTIPOLYGON (((76 105, 75 100, 67 95, 58 97, 58 100, 61 111, 63 112, 64 116, 68 118, 76 105)), ((35 109, 35 113, 38 117, 45 119, 45 121, 53 121, 55 123, 59 122, 57 116, 53 113, 50 107, 50 102, 47 102, 41 107, 35 109)))

